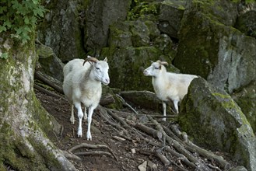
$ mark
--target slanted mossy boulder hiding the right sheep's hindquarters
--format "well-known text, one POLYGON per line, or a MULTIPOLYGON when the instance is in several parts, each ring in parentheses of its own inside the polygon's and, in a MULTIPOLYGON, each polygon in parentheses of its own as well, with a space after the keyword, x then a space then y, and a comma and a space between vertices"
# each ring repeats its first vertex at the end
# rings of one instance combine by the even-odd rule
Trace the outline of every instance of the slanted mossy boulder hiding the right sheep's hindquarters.
POLYGON ((199 145, 230 152, 248 170, 256 169, 256 138, 229 94, 194 79, 181 103, 179 123, 199 145))

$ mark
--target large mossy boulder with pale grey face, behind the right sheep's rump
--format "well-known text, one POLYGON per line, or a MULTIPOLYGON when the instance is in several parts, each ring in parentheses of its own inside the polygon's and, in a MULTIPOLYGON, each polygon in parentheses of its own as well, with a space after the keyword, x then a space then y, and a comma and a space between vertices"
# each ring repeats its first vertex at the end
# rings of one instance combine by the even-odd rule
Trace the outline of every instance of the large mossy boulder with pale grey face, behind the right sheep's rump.
POLYGON ((256 79, 256 40, 234 29, 237 3, 189 1, 174 65, 232 93, 256 79))

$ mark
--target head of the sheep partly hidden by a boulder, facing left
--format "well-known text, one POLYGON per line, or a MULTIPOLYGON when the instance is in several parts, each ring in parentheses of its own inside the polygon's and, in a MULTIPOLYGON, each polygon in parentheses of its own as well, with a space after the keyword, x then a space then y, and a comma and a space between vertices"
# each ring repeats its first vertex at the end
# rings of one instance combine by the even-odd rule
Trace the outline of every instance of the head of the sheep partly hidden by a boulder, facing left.
POLYGON ((149 68, 146 68, 143 72, 144 75, 146 76, 153 76, 153 77, 157 77, 158 75, 160 75, 160 73, 162 72, 166 72, 166 68, 163 65, 168 65, 168 63, 166 61, 156 61, 153 62, 151 61, 152 64, 149 66, 149 68))

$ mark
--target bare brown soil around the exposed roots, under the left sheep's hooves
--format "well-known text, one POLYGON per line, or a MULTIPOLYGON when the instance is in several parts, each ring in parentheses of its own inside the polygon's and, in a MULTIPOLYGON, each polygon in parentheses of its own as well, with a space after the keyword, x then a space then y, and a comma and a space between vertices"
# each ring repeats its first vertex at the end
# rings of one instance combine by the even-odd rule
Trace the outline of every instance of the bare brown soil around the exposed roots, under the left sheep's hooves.
MULTIPOLYGON (((40 103, 47 110, 48 113, 53 115, 58 123, 63 126, 61 135, 56 135, 54 138, 54 144, 61 150, 68 151, 68 149, 75 145, 81 145, 87 143, 90 145, 107 145, 108 148, 79 148, 74 150, 76 152, 87 152, 83 155, 78 155, 81 160, 71 159, 75 167, 79 170, 89 171, 132 171, 139 170, 139 166, 143 162, 147 162, 147 170, 160 170, 160 171, 177 171, 177 170, 195 170, 189 166, 184 165, 180 159, 172 155, 165 154, 171 161, 170 165, 164 165, 160 160, 160 157, 156 156, 157 146, 154 143, 160 144, 160 140, 153 138, 149 134, 146 134, 135 127, 120 127, 120 123, 113 118, 103 118, 100 114, 99 107, 94 110, 92 120, 92 141, 86 140, 87 123, 82 124, 82 138, 77 138, 78 120, 75 113, 75 124, 71 124, 70 117, 70 105, 65 99, 56 98, 55 96, 49 96, 44 92, 40 92, 35 89, 37 98, 40 103), (109 124, 108 121, 117 124, 109 124), (119 125, 119 126, 118 126, 119 125), (147 138, 149 141, 145 141, 147 138), (91 153, 90 153, 91 152, 91 153)), ((150 111, 141 111, 147 113, 150 111)), ((128 118, 135 116, 132 111, 124 108, 123 113, 118 113, 118 117, 128 118), (124 113, 125 112, 125 113, 124 113), (128 114, 131 113, 131 114, 128 114)), ((139 117, 134 117, 134 120, 140 120, 139 117)), ((149 124, 150 125, 150 124, 149 124)), ((122 125, 121 125, 122 126, 122 125)), ((161 150, 161 148, 159 148, 161 150)), ((212 166, 217 166, 216 163, 201 158, 197 154, 194 154, 198 160, 202 162, 209 162, 212 166)), ((218 170, 218 169, 210 169, 218 170)), ((220 170, 220 169, 219 169, 220 170)))

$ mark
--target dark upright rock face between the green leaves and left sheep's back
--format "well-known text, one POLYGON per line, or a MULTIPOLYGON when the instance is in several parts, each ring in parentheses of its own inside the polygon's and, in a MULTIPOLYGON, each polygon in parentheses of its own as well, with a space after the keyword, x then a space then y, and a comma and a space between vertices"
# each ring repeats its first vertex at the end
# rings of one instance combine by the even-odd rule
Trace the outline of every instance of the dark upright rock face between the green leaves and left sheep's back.
POLYGON ((51 47, 62 61, 85 56, 80 31, 80 5, 79 1, 45 1, 49 12, 39 27, 37 38, 51 47))

